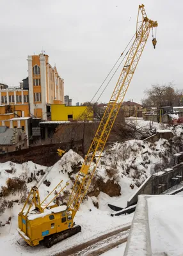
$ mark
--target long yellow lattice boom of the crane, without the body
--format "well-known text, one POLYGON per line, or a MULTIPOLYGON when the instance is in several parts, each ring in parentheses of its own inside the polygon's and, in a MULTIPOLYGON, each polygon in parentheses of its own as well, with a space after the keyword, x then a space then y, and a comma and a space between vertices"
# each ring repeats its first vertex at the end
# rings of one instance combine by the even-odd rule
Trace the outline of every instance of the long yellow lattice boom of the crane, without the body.
POLYGON ((104 116, 102 117, 95 137, 93 138, 92 145, 86 154, 84 163, 77 175, 74 188, 72 189, 72 193, 68 200, 67 207, 72 211, 73 215, 76 214, 79 205, 88 191, 92 178, 95 175, 100 156, 122 105, 125 93, 131 83, 139 58, 141 57, 147 42, 150 29, 157 27, 156 21, 154 22, 147 18, 143 4, 139 6, 139 12, 135 40, 131 46, 127 60, 125 61, 125 65, 123 66, 118 82, 116 83, 115 90, 113 91, 113 95, 107 104, 104 116), (141 21, 139 21, 139 12, 141 12, 142 15, 141 21), (98 154, 97 159, 95 159, 96 153, 98 154))

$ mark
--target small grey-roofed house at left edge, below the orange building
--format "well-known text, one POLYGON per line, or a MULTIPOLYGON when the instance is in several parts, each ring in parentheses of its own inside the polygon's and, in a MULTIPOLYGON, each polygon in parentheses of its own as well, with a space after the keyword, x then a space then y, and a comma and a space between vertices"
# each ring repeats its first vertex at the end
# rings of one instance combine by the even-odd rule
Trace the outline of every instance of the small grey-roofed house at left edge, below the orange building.
POLYGON ((21 128, 0 126, 0 154, 27 148, 26 132, 21 128))

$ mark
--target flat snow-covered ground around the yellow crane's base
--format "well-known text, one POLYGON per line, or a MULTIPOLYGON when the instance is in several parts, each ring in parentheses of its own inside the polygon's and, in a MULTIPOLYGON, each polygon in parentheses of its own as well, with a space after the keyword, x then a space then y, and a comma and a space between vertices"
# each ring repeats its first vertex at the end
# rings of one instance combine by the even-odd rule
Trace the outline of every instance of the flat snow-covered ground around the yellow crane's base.
POLYGON ((1 232, 4 230, 4 234, 1 233, 0 248, 3 252, 6 252, 7 256, 18 255, 54 255, 54 253, 67 250, 76 244, 84 243, 98 237, 102 234, 109 232, 109 230, 115 230, 122 227, 127 223, 131 223, 133 214, 127 216, 119 216, 113 218, 109 215, 109 211, 101 211, 96 209, 92 200, 84 205, 81 205, 79 212, 76 214, 75 221, 77 225, 81 225, 82 231, 75 236, 72 236, 61 243, 55 244, 51 248, 47 249, 44 246, 30 247, 24 240, 17 234, 17 214, 22 208, 22 205, 16 205, 13 207, 12 212, 6 212, 7 216, 12 216, 10 225, 1 227, 1 232), (92 209, 92 211, 89 211, 92 209))

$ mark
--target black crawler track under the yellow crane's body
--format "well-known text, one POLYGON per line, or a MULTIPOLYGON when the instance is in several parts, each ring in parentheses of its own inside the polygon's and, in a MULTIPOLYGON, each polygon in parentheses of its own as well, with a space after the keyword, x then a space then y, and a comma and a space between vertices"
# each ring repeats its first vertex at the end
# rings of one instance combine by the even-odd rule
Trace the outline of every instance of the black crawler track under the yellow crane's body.
POLYGON ((68 237, 76 235, 81 231, 81 226, 76 226, 67 230, 64 230, 60 233, 53 234, 49 237, 45 237, 43 244, 47 248, 51 248, 53 244, 57 244, 60 241, 67 239, 68 237))

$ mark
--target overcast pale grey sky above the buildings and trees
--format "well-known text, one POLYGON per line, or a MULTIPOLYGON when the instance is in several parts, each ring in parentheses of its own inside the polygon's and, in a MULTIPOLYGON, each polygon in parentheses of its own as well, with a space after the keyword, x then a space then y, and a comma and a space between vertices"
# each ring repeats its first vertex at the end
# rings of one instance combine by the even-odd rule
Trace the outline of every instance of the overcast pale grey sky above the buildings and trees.
MULTIPOLYGON (((182 88, 181 0, 143 0, 157 20, 157 48, 151 34, 125 100, 140 102, 151 84, 182 88)), ((0 81, 17 86, 28 76, 27 56, 44 49, 76 102, 92 99, 136 31, 137 0, 0 0, 0 81)), ((118 77, 100 102, 107 102, 118 77)))

